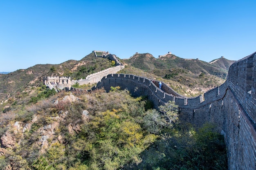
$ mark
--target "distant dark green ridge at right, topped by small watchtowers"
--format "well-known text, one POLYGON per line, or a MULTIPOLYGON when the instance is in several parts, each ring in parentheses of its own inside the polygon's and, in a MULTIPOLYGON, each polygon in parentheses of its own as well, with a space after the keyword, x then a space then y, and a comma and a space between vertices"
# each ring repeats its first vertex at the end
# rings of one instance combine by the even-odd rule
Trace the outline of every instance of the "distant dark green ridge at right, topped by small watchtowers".
MULTIPOLYGON (((234 63, 234 61, 221 58, 211 64, 198 59, 180 58, 174 54, 167 54, 155 58, 149 53, 135 54, 124 61, 136 68, 152 73, 157 72, 157 70, 174 69, 196 75, 200 75, 201 73, 215 75, 223 79, 227 77, 229 66, 234 63)), ((157 75, 161 77, 165 76, 164 74, 166 74, 166 72, 157 73, 157 75)))

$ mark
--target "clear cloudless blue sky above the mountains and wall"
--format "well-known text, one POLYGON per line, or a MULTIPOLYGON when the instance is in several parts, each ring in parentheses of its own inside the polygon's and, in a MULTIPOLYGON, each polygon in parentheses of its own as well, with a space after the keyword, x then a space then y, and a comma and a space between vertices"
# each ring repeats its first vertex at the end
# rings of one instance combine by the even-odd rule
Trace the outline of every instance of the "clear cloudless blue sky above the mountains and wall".
POLYGON ((168 51, 210 62, 256 51, 256 0, 0 0, 0 72, 168 51))

